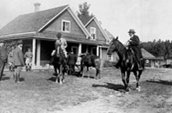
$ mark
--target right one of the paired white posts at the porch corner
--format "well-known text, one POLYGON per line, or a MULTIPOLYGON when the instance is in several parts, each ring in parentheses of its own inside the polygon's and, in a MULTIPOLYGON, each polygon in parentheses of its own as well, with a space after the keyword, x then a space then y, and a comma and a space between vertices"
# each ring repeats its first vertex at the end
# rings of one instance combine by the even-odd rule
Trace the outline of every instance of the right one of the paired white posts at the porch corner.
POLYGON ((36 55, 36 66, 40 66, 40 58, 41 58, 41 41, 37 40, 37 55, 36 55))

